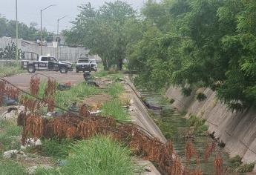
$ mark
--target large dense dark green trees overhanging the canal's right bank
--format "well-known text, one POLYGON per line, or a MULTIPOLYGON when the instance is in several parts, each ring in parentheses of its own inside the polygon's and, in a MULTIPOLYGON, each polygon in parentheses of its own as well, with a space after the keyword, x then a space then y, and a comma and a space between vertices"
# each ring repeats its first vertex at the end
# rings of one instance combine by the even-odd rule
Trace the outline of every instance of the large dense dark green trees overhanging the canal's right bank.
POLYGON ((129 56, 137 82, 211 87, 232 110, 255 105, 255 12, 255 1, 148 1, 129 56))

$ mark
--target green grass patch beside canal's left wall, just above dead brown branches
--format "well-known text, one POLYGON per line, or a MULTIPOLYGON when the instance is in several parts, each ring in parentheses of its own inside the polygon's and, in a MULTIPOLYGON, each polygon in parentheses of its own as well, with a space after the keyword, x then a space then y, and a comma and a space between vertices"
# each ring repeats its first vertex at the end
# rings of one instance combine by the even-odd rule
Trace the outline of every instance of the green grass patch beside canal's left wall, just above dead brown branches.
POLYGON ((122 102, 119 99, 113 99, 103 103, 102 114, 105 116, 112 116, 114 119, 129 121, 130 117, 125 108, 122 107, 122 102))

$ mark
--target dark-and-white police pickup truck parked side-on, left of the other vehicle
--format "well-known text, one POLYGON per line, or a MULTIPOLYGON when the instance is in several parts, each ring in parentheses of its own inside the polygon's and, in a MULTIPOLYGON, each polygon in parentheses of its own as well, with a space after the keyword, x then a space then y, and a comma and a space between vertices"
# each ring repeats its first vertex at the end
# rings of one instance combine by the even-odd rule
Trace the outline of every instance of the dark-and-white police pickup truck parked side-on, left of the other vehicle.
POLYGON ((68 73, 73 71, 72 63, 60 62, 53 56, 39 56, 36 61, 22 60, 22 68, 28 73, 34 73, 36 70, 53 70, 60 73, 68 73))

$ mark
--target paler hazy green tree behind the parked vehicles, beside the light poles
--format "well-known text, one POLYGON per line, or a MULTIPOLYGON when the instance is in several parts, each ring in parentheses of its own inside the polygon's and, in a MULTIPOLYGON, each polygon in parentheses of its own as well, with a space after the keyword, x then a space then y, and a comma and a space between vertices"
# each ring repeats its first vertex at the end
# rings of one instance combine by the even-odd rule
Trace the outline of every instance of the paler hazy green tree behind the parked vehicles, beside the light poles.
POLYGON ((126 36, 126 22, 135 18, 132 7, 123 1, 106 2, 99 10, 84 4, 73 22, 72 30, 65 31, 68 44, 80 44, 102 58, 105 69, 112 65, 122 67, 126 48, 131 38, 126 36))

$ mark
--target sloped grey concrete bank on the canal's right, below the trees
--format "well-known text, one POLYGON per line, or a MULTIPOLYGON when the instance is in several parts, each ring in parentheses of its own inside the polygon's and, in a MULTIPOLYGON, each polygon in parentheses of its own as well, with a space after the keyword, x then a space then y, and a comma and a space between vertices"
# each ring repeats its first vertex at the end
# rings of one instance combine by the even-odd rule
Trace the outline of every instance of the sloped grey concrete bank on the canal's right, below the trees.
MULTIPOLYGON (((186 110, 186 117, 191 114, 203 117, 209 125, 209 132, 226 143, 225 149, 230 156, 240 155, 243 162, 256 162, 256 110, 250 108, 243 113, 228 110, 226 105, 217 101, 210 89, 201 89, 207 99, 198 102, 196 92, 185 97, 177 87, 170 87, 166 96, 174 99, 174 108, 186 110)), ((256 171, 256 168, 255 168, 256 171)))

